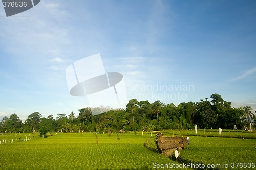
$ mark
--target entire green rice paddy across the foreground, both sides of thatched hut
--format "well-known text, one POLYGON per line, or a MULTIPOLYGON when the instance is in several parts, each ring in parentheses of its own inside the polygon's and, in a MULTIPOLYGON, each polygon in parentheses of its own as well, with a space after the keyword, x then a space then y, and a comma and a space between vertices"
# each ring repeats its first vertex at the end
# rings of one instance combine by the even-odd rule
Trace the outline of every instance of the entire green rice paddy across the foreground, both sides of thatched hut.
POLYGON ((152 137, 140 132, 97 137, 94 133, 58 133, 48 138, 38 133, 3 134, 0 169, 255 169, 256 139, 190 136, 189 146, 176 160, 145 148, 147 139, 155 147, 152 137))

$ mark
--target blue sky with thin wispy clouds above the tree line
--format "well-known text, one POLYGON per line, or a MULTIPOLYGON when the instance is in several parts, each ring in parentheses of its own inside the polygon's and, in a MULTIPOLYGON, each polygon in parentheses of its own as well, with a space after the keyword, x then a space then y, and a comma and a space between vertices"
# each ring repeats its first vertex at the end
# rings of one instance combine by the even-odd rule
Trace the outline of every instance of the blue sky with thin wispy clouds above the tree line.
POLYGON ((255 7, 255 1, 41 0, 10 17, 0 7, 0 116, 78 116, 88 101, 69 94, 65 70, 97 53, 107 72, 123 74, 127 101, 177 105, 218 93, 232 107, 255 112, 255 7))

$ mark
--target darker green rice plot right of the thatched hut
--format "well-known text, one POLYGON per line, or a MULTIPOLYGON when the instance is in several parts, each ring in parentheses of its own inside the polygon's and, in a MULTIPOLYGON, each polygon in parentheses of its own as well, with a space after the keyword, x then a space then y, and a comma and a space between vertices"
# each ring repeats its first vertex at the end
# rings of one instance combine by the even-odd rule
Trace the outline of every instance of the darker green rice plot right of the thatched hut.
MULTIPOLYGON (((215 138, 215 137, 190 137, 189 146, 178 157, 178 162, 194 164, 229 164, 231 169, 254 169, 255 166, 255 139, 215 138), (242 163, 243 165, 232 164, 242 163), (251 168, 248 165, 254 164, 251 168)), ((214 169, 214 168, 213 168, 214 169)))

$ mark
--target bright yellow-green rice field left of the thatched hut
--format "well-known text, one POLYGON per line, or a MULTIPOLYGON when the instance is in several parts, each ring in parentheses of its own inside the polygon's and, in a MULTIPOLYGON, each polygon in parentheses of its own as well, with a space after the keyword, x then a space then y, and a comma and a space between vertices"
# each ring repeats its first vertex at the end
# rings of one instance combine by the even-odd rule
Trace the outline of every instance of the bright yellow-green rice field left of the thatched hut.
MULTIPOLYGON (((15 134, 5 134, 0 139, 14 139, 15 134)), ((24 141, 29 134, 13 143, 0 144, 1 169, 152 169, 154 162, 177 162, 143 147, 149 134, 134 133, 97 134, 58 133, 40 138, 38 133, 24 141)))

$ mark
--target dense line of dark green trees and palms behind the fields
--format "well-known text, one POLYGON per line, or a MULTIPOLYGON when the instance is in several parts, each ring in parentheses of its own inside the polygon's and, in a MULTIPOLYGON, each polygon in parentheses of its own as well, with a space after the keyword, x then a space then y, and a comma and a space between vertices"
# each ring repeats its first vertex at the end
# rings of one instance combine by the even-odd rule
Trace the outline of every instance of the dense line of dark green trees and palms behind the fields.
POLYGON ((250 106, 231 107, 231 102, 224 101, 219 94, 212 94, 200 102, 183 102, 178 106, 173 103, 164 104, 155 101, 138 101, 131 99, 126 109, 115 109, 92 115, 91 109, 79 109, 79 115, 74 112, 68 116, 58 114, 42 117, 39 112, 28 115, 22 123, 17 114, 8 118, 5 116, 0 122, 2 133, 10 132, 40 132, 41 136, 47 132, 118 132, 124 131, 158 131, 163 129, 193 129, 195 124, 199 128, 238 129, 244 126, 255 127, 256 116, 250 106))

